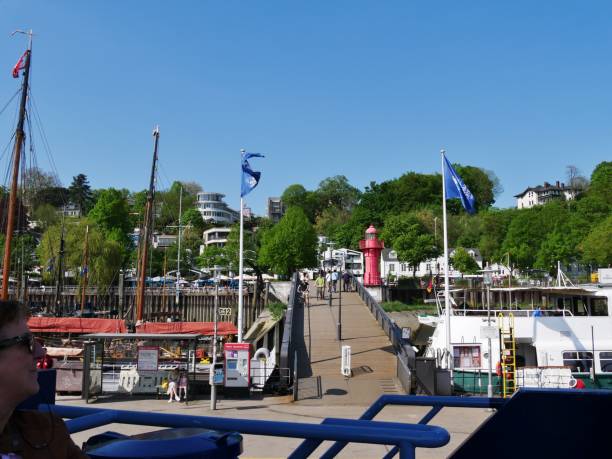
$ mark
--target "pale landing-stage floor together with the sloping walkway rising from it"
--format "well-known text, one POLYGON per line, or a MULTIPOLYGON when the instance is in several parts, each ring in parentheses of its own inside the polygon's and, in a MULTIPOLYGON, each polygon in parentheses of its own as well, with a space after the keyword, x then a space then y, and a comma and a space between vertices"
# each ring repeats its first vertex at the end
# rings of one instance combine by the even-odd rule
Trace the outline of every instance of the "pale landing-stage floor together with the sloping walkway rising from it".
MULTIPOLYGON (((313 292, 314 293, 314 292, 313 292)), ((259 419, 288 422, 320 423, 328 417, 357 419, 382 394, 401 394, 396 379, 396 357, 369 309, 356 293, 342 293, 342 341, 337 339, 336 324, 339 317, 338 294, 330 308, 327 300, 310 298, 310 306, 303 310, 304 348, 302 373, 321 378, 322 394, 293 402, 289 396, 269 396, 258 399, 224 399, 220 397, 217 410, 211 411, 208 400, 200 398, 183 403, 134 397, 128 400, 100 400, 89 407, 146 411, 151 413, 178 413, 195 416, 219 416, 237 419, 259 419), (340 373, 341 346, 352 350, 352 376, 340 373), (310 360, 308 362, 308 359, 310 360), (306 362, 304 362, 304 360, 306 362)), ((310 378, 312 379, 312 378, 310 378)), ((304 379, 305 383, 307 380, 304 379)), ((303 384, 304 385, 304 384, 303 384)), ((313 395, 313 394, 310 394, 313 395)), ((316 395, 316 394, 314 394, 316 395)), ((205 396, 204 396, 205 397, 205 396)), ((58 403, 85 406, 78 397, 58 397, 58 403)), ((416 423, 427 412, 425 407, 385 408, 377 417, 381 421, 416 423)), ((488 416, 483 409, 445 408, 430 422, 446 428, 451 441, 444 448, 418 449, 418 458, 442 458, 452 452, 488 416)), ((73 435, 77 444, 90 436, 108 430, 124 434, 137 434, 158 430, 157 427, 111 424, 73 435)), ((245 458, 287 457, 301 439, 273 436, 245 435, 245 458)), ((324 443, 312 457, 319 457, 329 446, 324 443)), ((383 457, 390 447, 370 444, 350 444, 338 457, 383 457)))

